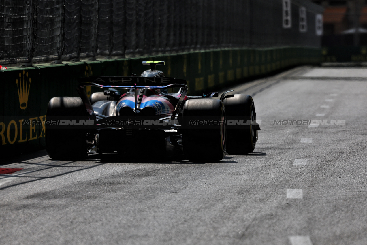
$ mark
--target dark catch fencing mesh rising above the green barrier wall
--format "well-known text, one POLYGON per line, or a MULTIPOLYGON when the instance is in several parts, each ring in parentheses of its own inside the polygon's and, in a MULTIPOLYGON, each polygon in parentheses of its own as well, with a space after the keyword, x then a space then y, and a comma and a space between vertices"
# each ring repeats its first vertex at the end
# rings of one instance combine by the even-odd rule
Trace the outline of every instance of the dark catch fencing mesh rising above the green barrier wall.
POLYGON ((238 47, 320 47, 322 8, 291 0, 2 0, 0 64, 238 47), (307 10, 306 32, 299 8, 307 10))

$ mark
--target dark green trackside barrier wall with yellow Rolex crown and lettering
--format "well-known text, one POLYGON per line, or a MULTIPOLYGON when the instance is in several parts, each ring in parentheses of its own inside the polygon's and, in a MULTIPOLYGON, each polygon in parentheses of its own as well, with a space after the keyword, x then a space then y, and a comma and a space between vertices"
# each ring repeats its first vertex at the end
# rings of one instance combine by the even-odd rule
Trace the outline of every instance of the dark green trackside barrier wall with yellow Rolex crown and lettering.
MULTIPOLYGON (((46 118, 48 101, 55 96, 78 96, 77 78, 86 76, 138 76, 153 57, 117 59, 34 67, 11 67, 0 72, 0 153, 11 156, 42 149, 44 125, 22 126, 23 120, 46 118)), ((282 47, 191 52, 155 56, 166 61, 159 66, 167 77, 188 81, 189 94, 220 88, 234 81, 266 75, 286 67, 321 62, 317 48, 282 47)), ((87 89, 87 94, 91 91, 87 89)))

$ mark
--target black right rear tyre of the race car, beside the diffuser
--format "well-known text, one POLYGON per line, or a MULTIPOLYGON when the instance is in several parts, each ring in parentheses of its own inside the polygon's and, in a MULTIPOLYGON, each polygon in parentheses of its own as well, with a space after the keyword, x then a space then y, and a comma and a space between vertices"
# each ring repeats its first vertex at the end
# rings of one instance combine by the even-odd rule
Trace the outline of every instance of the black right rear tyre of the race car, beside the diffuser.
POLYGON ((225 115, 224 105, 219 99, 186 101, 182 116, 182 143, 188 160, 217 162, 223 159, 226 147, 225 115))

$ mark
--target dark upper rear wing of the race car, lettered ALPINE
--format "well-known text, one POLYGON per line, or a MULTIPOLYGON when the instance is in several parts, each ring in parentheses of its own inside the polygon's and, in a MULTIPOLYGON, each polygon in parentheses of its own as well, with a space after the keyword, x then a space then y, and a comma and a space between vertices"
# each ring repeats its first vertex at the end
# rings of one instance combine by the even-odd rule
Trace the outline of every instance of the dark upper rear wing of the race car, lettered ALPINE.
POLYGON ((80 86, 102 88, 183 88, 186 80, 173 77, 82 77, 80 86))

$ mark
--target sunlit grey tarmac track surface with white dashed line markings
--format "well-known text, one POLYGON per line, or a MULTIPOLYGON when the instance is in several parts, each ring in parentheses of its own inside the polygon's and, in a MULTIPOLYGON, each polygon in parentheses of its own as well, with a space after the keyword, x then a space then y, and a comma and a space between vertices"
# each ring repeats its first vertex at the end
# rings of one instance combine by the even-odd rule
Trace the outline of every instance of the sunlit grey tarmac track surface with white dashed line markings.
POLYGON ((367 244, 366 77, 305 66, 235 86, 261 120, 247 156, 14 157, 1 244, 367 244))

